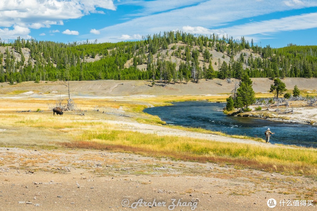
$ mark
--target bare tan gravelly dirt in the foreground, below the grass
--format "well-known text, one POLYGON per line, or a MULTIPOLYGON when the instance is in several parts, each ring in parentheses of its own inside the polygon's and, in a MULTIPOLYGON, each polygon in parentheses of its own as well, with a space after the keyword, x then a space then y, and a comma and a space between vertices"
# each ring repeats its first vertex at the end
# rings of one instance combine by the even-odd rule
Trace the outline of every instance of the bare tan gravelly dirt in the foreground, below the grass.
POLYGON ((303 199, 312 179, 213 163, 41 148, 0 148, 0 159, 1 210, 267 210, 271 198, 275 210, 316 206, 280 206, 303 199))

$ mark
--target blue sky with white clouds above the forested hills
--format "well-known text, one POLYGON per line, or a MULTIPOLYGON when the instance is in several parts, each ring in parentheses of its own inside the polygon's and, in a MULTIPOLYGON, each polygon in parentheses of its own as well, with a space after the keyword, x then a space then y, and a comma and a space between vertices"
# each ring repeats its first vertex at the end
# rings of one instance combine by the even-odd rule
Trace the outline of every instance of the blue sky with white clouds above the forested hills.
POLYGON ((317 0, 1 0, 0 38, 118 42, 179 30, 317 45, 317 0))

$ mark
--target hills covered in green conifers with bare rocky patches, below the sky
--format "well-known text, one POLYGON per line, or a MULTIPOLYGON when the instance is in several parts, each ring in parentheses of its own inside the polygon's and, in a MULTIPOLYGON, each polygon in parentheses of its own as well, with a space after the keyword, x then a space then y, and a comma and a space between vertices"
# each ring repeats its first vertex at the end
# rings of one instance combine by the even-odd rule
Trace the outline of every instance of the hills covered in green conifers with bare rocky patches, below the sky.
POLYGON ((317 77, 317 46, 271 48, 241 37, 164 32, 118 43, 0 40, 0 82, 317 77))

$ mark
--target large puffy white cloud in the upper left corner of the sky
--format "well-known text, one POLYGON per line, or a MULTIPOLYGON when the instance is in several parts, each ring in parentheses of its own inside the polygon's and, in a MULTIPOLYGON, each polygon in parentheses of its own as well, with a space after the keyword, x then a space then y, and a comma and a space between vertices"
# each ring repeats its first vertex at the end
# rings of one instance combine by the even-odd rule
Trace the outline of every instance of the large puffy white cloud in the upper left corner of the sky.
MULTIPOLYGON (((63 20, 102 12, 97 8, 116 9, 113 0, 2 0, 0 29, 14 31, 10 29, 13 26, 39 29, 64 25, 63 20)), ((10 39, 6 34, 1 34, 1 38, 10 39)))

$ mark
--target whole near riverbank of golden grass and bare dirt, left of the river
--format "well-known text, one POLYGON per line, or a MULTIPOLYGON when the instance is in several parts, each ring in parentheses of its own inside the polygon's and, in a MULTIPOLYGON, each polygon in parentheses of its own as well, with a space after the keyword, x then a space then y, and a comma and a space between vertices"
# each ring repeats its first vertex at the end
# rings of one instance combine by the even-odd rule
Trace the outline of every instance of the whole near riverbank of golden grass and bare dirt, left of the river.
POLYGON ((80 93, 81 82, 70 83, 78 87, 70 92, 77 110, 62 116, 53 115, 49 108, 66 99, 67 91, 61 93, 45 83, 14 85, 10 92, 3 91, 3 209, 130 210, 122 207, 122 200, 131 205, 141 198, 165 202, 174 198, 198 202, 197 210, 243 211, 264 210, 270 198, 317 201, 315 149, 164 127, 158 117, 142 112, 179 100, 224 101, 226 95, 197 91, 195 96, 166 96, 166 87, 156 95, 130 93, 137 88, 120 94, 117 89, 124 85, 112 84, 111 90, 94 88, 95 81, 85 83, 92 89, 81 88, 80 93), (44 112, 33 112, 37 109, 44 112), (32 112, 17 113, 25 110, 32 112))

